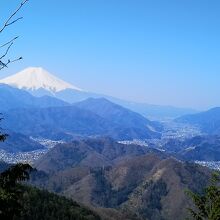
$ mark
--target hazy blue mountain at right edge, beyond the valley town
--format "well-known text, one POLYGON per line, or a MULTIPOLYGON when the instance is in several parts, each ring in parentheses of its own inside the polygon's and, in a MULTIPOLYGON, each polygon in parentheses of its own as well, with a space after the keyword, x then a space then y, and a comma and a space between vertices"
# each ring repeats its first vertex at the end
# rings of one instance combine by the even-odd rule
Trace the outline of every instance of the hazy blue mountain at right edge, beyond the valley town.
POLYGON ((206 134, 220 135, 220 107, 198 114, 185 115, 175 121, 197 126, 206 134))

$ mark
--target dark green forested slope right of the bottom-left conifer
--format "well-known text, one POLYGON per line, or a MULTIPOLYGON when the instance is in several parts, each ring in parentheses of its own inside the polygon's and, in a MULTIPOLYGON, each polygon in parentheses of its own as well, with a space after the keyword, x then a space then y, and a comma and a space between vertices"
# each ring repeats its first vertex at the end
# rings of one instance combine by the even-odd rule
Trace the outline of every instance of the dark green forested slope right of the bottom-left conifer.
POLYGON ((23 210, 18 220, 99 220, 98 215, 76 202, 65 197, 39 190, 33 187, 23 187, 21 200, 23 210))

